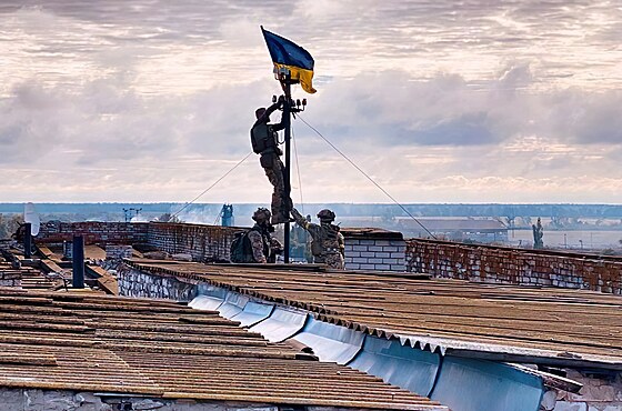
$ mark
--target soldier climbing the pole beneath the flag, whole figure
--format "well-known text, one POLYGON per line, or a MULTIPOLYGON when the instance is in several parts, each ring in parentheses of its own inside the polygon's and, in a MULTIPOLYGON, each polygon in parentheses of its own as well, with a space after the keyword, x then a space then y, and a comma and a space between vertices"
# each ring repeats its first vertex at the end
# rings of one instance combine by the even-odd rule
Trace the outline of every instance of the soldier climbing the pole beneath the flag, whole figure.
POLYGON ((281 161, 283 152, 279 148, 279 132, 283 130, 285 124, 283 114, 281 121, 275 124, 270 123, 270 114, 280 109, 284 102, 284 97, 270 106, 268 109, 259 108, 254 114, 257 121, 251 129, 251 143, 253 151, 260 154, 259 162, 268 176, 268 180, 274 188, 272 193, 272 223, 280 224, 290 221, 289 210, 291 209, 291 199, 285 198, 284 166, 281 161))

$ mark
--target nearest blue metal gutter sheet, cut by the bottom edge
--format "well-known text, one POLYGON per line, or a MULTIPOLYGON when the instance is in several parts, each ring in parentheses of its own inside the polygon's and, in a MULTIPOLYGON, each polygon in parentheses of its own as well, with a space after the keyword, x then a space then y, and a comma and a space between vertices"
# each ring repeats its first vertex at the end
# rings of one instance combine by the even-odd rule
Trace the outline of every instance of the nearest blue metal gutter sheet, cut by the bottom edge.
POLYGON ((538 411, 542 379, 512 367, 444 357, 432 399, 460 411, 538 411))

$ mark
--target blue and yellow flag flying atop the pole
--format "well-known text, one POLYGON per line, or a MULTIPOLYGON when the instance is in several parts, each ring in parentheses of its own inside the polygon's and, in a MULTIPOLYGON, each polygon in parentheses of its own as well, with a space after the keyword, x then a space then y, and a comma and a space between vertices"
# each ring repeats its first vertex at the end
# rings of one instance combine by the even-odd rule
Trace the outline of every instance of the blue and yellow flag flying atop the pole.
POLYGON ((263 30, 263 26, 261 31, 277 70, 281 68, 290 70, 291 78, 299 80, 304 91, 314 93, 315 89, 311 82, 313 80, 313 64, 315 62, 311 54, 309 54, 309 51, 281 36, 263 30))

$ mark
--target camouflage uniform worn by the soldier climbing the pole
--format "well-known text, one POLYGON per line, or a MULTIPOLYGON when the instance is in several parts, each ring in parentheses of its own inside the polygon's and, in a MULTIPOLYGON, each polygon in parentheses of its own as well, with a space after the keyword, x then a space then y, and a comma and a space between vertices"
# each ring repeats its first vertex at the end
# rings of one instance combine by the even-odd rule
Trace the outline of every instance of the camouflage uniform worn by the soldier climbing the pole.
MULTIPOLYGON (((258 117, 251 129, 251 136, 255 128, 265 127, 268 124, 269 141, 267 148, 260 153, 260 164, 268 177, 268 180, 274 188, 272 192, 272 223, 280 224, 289 221, 289 210, 291 209, 291 200, 285 198, 285 181, 284 181, 284 169, 283 162, 281 161, 281 156, 283 152, 279 148, 279 133, 278 131, 283 130, 285 124, 283 118, 275 124, 270 124, 270 114, 280 107, 281 102, 277 102, 270 106, 263 111, 263 114, 258 117)), ((258 109, 258 111, 261 109, 258 109)))

